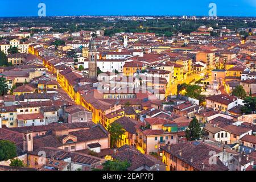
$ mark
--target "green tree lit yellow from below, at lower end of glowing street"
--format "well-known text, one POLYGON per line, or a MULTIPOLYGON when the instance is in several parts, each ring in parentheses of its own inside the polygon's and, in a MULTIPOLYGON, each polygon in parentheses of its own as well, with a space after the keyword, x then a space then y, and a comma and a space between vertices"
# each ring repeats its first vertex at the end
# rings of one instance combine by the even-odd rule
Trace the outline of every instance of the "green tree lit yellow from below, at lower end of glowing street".
POLYGON ((122 135, 125 134, 125 130, 119 123, 113 122, 108 126, 108 131, 110 133, 110 145, 112 148, 117 146, 117 142, 122 140, 122 135))

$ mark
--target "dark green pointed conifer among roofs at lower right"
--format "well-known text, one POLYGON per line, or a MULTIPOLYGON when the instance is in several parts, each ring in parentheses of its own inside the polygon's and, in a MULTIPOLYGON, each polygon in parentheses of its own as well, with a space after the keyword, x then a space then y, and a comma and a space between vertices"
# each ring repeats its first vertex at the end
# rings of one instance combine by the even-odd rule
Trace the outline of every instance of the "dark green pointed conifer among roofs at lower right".
POLYGON ((200 139, 203 136, 203 131, 200 127, 200 122, 193 118, 189 123, 188 129, 186 130, 186 138, 189 141, 200 139))

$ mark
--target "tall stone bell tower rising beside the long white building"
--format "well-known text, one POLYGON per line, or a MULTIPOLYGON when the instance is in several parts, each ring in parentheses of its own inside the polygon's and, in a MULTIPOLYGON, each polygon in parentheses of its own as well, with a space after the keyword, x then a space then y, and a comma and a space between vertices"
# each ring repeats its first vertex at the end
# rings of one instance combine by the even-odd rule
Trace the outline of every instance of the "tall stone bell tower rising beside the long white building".
POLYGON ((89 46, 89 78, 97 78, 97 48, 96 43, 92 39, 89 46))

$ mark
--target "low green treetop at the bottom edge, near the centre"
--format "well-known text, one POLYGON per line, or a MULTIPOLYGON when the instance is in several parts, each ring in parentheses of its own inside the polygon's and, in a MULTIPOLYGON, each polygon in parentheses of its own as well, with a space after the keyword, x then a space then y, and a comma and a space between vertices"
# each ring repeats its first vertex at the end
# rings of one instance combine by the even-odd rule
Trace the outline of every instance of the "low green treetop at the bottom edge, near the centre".
POLYGON ((127 171, 127 168, 131 166, 127 160, 119 161, 119 160, 108 160, 103 166, 103 171, 127 171))

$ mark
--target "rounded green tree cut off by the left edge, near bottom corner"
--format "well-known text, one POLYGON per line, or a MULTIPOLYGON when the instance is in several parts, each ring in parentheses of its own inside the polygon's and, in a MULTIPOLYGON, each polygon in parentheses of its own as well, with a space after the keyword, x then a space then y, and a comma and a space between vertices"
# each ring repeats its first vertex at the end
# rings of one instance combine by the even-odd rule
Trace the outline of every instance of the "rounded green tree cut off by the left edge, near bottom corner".
POLYGON ((0 161, 13 159, 16 156, 15 144, 9 140, 0 140, 0 161))

